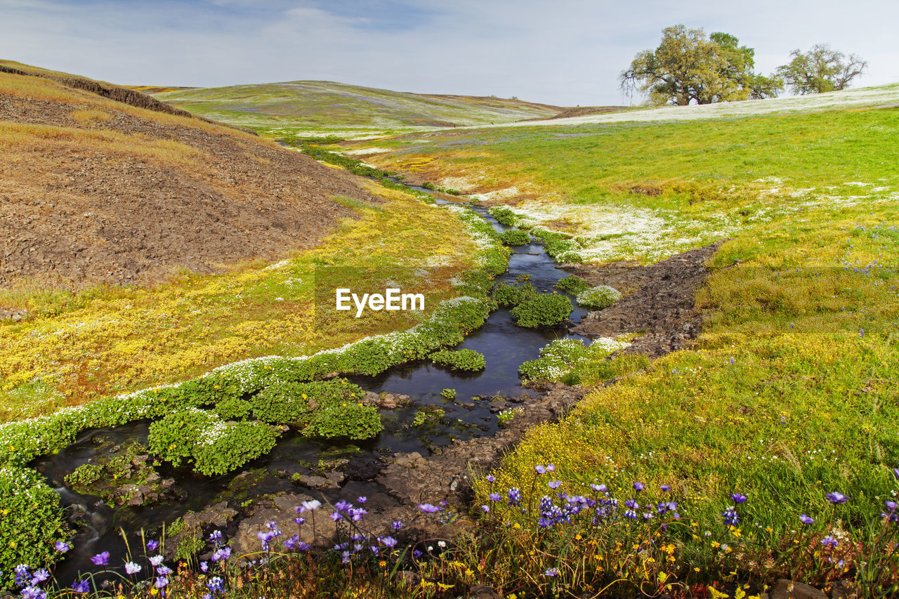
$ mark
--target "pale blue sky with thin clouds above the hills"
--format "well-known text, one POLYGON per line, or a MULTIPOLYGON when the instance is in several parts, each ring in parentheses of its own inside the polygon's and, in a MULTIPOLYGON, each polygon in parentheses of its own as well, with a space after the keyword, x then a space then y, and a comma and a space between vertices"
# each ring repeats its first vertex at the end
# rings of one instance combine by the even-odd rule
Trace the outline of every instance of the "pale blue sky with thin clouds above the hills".
POLYGON ((403 92, 638 103, 618 76, 664 27, 726 31, 769 74, 815 43, 899 82, 897 0, 0 0, 0 58, 121 85, 329 80, 403 92))

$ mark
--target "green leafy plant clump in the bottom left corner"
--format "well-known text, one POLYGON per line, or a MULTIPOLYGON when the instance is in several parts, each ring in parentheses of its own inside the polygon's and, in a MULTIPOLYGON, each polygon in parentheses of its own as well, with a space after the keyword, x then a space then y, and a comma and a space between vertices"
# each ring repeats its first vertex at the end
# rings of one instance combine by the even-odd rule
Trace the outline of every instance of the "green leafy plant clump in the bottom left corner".
POLYGON ((58 493, 32 469, 0 468, 0 589, 19 564, 52 564, 69 530, 58 493))

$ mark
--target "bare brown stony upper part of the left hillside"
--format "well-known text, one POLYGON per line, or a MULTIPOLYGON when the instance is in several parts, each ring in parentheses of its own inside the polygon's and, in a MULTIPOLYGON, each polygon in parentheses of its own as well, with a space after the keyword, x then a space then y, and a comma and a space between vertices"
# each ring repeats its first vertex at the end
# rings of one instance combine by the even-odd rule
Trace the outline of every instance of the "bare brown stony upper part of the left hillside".
POLYGON ((0 72, 0 287, 275 260, 352 216, 335 197, 379 201, 250 133, 64 83, 0 72))

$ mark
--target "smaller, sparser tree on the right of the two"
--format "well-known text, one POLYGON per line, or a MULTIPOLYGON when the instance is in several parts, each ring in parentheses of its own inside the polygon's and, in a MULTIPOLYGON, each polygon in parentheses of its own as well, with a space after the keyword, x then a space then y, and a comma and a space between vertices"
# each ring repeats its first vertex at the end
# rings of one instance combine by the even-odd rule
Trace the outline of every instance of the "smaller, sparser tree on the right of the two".
POLYGON ((868 68, 868 63, 855 54, 849 58, 827 44, 816 44, 803 53, 799 49, 790 52, 790 62, 778 67, 794 94, 820 94, 844 89, 852 79, 868 68))

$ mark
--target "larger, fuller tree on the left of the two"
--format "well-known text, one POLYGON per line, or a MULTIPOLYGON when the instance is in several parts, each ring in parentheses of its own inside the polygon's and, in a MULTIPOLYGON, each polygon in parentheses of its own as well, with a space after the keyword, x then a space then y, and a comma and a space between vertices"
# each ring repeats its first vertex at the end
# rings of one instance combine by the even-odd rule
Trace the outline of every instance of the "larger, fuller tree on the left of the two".
POLYGON ((730 33, 684 25, 666 27, 658 48, 639 52, 621 73, 621 86, 649 94, 650 103, 708 104, 776 96, 778 76, 752 71, 755 50, 740 45, 730 33))

